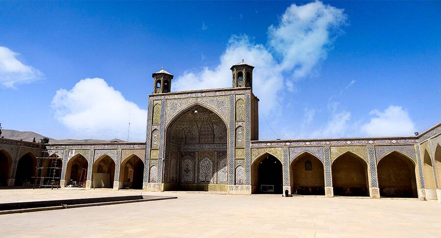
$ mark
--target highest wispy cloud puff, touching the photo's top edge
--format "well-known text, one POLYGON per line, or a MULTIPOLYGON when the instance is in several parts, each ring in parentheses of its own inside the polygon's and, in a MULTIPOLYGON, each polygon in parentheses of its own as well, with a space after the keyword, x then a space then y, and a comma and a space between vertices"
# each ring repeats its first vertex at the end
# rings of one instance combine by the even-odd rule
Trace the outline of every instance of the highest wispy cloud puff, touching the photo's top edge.
POLYGON ((280 67, 294 70, 294 78, 308 75, 319 60, 326 58, 328 47, 345 21, 343 9, 319 1, 292 4, 279 25, 271 25, 268 32, 270 46, 283 56, 280 67))

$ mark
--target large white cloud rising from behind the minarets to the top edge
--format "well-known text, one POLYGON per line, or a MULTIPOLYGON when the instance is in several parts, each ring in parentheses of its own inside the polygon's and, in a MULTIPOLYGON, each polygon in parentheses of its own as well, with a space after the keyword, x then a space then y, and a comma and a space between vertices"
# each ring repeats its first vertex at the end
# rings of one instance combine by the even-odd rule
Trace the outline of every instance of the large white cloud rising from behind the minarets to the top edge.
POLYGON ((259 109, 266 114, 280 110, 272 105, 282 100, 283 90, 295 91, 294 84, 285 80, 284 74, 295 78, 310 73, 319 60, 326 57, 327 49, 345 19, 342 9, 318 1, 302 6, 292 4, 278 26, 269 27, 270 48, 252 43, 248 36, 233 35, 219 65, 184 72, 176 77, 173 90, 231 87, 229 68, 245 59, 246 63, 255 66, 253 91, 261 99, 259 109), (278 55, 281 55, 280 60, 275 59, 278 55))

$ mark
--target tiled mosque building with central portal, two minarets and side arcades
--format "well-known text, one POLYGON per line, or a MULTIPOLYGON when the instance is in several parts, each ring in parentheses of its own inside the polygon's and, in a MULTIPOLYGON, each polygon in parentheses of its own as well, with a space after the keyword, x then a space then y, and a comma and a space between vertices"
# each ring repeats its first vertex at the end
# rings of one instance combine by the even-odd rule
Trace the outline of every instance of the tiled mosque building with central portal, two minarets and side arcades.
POLYGON ((153 73, 146 142, 0 139, 0 186, 23 186, 48 150, 61 187, 441 201, 441 123, 415 136, 259 140, 253 68, 233 65, 230 88, 182 92, 171 73, 153 73))

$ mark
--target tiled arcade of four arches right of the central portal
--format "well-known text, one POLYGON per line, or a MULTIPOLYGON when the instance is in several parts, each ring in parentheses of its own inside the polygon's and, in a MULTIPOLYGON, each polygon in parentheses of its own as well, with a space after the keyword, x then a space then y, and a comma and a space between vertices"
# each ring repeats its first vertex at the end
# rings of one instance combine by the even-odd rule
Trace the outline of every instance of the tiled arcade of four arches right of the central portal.
POLYGON ((270 185, 274 188, 270 192, 278 194, 288 190, 292 195, 424 198, 430 185, 424 185, 424 176, 430 177, 432 167, 422 171, 415 145, 268 147, 292 144, 301 142, 274 141, 251 147, 252 193, 269 193, 270 185), (274 163, 267 165, 267 160, 274 163))

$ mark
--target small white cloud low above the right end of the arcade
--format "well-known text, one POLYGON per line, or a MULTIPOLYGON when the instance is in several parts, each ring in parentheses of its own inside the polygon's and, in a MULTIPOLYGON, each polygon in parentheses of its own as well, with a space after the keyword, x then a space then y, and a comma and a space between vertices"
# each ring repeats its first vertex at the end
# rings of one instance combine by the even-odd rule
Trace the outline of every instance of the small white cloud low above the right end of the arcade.
POLYGON ((389 106, 384 111, 372 110, 370 121, 361 126, 369 136, 413 135, 415 125, 409 114, 400 106, 389 106))

